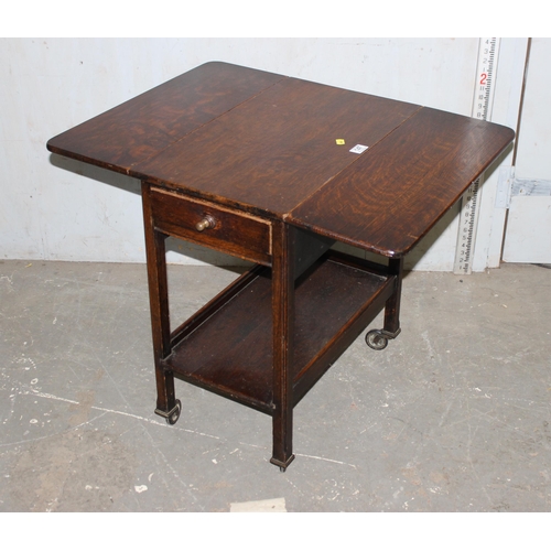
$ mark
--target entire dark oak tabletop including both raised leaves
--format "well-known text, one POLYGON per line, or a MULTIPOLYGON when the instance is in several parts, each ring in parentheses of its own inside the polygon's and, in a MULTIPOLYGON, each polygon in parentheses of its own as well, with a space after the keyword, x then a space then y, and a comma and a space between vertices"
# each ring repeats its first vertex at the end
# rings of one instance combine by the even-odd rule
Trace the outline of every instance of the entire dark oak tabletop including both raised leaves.
POLYGON ((208 63, 47 148, 398 257, 514 137, 469 117, 208 63), (350 152, 358 144, 367 149, 350 152))

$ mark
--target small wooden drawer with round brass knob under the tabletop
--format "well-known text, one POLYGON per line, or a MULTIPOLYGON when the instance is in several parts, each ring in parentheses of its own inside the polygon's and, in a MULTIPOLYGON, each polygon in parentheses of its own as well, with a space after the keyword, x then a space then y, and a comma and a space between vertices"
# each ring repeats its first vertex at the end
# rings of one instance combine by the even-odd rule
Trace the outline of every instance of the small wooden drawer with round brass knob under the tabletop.
POLYGON ((271 262, 271 225, 247 213, 151 187, 156 229, 262 264, 271 262))

